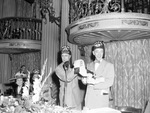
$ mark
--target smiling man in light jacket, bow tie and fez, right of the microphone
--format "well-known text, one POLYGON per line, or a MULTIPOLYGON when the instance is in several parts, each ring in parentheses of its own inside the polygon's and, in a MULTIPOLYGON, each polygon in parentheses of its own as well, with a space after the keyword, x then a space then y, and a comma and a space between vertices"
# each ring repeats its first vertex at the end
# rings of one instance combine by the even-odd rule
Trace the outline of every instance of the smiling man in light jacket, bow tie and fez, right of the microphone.
POLYGON ((104 43, 97 41, 92 47, 94 61, 87 64, 89 73, 87 77, 82 78, 82 82, 87 84, 85 94, 84 109, 96 109, 109 107, 110 87, 114 82, 114 65, 104 60, 104 43))

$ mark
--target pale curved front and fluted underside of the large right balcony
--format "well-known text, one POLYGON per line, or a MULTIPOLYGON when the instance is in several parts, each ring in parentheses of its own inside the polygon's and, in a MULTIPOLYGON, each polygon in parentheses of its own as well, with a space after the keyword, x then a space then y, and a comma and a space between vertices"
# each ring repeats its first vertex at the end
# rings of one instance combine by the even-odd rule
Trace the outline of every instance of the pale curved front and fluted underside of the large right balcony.
POLYGON ((122 41, 150 37, 150 16, 140 13, 107 13, 73 22, 66 28, 69 42, 90 45, 95 41, 122 41))

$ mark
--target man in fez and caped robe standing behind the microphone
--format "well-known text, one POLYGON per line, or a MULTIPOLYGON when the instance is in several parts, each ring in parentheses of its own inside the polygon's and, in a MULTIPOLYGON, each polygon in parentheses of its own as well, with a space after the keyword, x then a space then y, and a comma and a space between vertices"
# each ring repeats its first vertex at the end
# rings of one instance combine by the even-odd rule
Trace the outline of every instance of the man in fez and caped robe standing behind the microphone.
POLYGON ((55 69, 55 73, 58 76, 60 82, 60 106, 81 109, 78 75, 74 72, 71 50, 69 46, 62 47, 61 59, 62 63, 59 64, 55 69))

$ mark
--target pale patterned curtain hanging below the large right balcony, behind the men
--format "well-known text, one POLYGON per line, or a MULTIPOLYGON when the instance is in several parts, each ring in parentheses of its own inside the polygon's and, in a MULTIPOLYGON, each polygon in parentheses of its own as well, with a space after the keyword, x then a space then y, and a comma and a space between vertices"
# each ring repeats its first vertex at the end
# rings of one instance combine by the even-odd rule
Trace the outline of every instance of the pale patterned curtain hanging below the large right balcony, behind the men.
MULTIPOLYGON (((150 39, 106 43, 105 49, 105 59, 115 66, 114 105, 144 108, 150 96, 150 39)), ((91 46, 85 52, 90 62, 91 46)))

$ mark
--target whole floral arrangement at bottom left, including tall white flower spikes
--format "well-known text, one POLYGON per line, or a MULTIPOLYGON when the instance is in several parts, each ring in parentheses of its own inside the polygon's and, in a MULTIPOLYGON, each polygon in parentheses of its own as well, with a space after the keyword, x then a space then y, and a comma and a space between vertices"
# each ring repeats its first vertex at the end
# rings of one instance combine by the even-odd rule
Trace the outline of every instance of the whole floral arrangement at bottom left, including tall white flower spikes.
POLYGON ((41 74, 36 74, 33 82, 33 94, 29 95, 29 75, 23 87, 22 98, 12 96, 0 96, 0 113, 73 113, 73 110, 55 105, 55 99, 51 97, 52 84, 45 84, 49 74, 43 79, 47 59, 44 62, 41 74))

